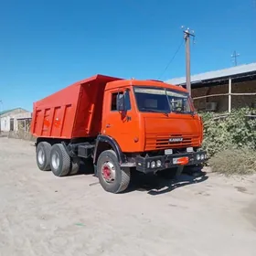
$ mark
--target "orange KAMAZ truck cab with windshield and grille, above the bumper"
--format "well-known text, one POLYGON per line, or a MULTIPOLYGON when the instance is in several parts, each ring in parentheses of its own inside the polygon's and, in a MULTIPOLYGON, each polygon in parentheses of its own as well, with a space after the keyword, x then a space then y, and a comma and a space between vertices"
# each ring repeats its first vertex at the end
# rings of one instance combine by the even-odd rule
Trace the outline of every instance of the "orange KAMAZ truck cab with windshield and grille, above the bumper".
POLYGON ((202 124, 182 87, 121 80, 107 84, 104 93, 101 134, 124 153, 201 145, 202 124))

